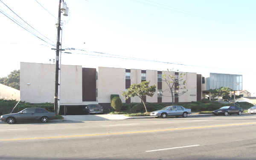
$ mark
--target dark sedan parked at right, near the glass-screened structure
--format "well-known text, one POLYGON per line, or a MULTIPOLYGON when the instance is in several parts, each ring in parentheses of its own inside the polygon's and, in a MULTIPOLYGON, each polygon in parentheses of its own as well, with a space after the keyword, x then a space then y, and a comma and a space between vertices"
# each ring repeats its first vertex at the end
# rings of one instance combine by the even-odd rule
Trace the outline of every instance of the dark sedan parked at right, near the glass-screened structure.
POLYGON ((231 115, 231 114, 238 114, 238 115, 242 115, 243 109, 239 108, 238 106, 224 106, 221 107, 220 109, 217 109, 215 111, 213 111, 212 113, 215 115, 231 115))

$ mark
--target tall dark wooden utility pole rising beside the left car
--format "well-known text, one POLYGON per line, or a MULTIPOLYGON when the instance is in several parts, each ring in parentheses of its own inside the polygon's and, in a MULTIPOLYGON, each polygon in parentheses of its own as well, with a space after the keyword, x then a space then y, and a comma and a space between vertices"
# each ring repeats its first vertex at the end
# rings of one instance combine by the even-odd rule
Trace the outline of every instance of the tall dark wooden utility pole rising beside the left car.
POLYGON ((59 0, 58 9, 58 29, 57 29, 57 44, 56 44, 56 69, 55 69, 55 94, 54 94, 54 112, 58 115, 58 72, 59 72, 59 49, 60 49, 60 31, 61 31, 61 0, 59 0))

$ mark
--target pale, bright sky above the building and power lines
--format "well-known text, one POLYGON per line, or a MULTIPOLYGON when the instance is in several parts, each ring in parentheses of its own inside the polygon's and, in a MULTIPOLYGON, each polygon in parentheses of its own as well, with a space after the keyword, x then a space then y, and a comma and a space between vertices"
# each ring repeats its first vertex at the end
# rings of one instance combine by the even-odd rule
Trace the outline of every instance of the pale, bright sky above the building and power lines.
MULTIPOLYGON (((2 2, 0 11, 47 43, 0 13, 0 77, 19 69, 20 61, 50 63, 49 59, 55 59, 51 49, 54 46, 50 44, 56 44, 58 0, 1 1, 34 29, 2 2)), ((174 68, 205 77, 209 73, 241 74, 243 90, 256 93, 255 0, 65 2, 70 12, 67 17, 61 15, 62 46, 76 50, 66 50, 72 54, 63 53, 61 64, 144 70, 174 68)))

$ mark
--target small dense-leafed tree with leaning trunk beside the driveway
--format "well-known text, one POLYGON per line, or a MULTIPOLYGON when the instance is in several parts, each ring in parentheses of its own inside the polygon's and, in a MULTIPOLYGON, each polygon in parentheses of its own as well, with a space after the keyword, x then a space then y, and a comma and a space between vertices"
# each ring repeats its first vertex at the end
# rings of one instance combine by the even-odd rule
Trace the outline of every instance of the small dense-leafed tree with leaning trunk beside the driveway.
POLYGON ((156 92, 156 85, 149 86, 149 81, 143 81, 140 84, 131 84, 131 86, 128 88, 128 90, 122 91, 122 96, 125 97, 125 99, 129 99, 134 96, 138 96, 141 99, 141 102, 143 102, 143 105, 145 107, 145 111, 147 111, 145 102, 143 101, 143 96, 153 96, 156 92))

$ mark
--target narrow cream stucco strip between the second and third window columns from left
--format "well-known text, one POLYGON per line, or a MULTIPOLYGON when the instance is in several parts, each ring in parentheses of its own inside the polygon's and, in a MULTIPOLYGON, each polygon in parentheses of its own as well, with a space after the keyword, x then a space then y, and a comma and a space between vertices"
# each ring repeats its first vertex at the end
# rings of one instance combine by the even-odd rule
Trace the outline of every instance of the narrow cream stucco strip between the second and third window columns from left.
MULTIPOLYGON (((150 81, 149 86, 157 86, 157 70, 146 70, 146 81, 150 81)), ((146 96, 146 102, 157 102, 157 87, 152 97, 146 96)))

